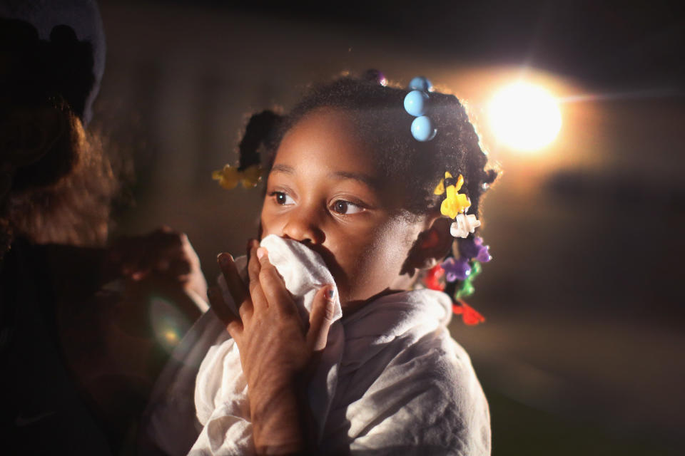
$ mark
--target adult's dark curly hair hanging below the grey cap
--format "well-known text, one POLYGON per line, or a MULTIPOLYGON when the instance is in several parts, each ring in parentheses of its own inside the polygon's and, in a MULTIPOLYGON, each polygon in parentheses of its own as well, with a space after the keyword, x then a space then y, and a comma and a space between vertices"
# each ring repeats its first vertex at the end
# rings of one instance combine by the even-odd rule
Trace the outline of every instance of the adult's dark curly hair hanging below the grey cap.
MULTIPOLYGON (((0 199, 0 257, 14 236, 37 243, 102 244, 119 183, 99 135, 83 130, 93 86, 90 43, 56 26, 49 41, 26 21, 0 18, 0 165, 12 162, 30 113, 50 111, 61 125, 36 162, 16 167, 0 199)), ((48 125, 32 125, 37 130, 48 125)), ((30 138, 29 138, 30 139, 30 138)))

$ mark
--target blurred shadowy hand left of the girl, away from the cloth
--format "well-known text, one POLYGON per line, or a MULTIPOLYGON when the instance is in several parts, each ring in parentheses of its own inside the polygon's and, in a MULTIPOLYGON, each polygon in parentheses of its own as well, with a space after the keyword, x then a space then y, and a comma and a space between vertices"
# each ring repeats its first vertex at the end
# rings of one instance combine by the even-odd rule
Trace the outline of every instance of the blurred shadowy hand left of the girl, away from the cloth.
POLYGON ((162 276, 178 282, 201 299, 207 296, 207 282, 198 254, 186 234, 168 227, 117 239, 109 249, 107 269, 115 276, 123 275, 133 281, 162 276))

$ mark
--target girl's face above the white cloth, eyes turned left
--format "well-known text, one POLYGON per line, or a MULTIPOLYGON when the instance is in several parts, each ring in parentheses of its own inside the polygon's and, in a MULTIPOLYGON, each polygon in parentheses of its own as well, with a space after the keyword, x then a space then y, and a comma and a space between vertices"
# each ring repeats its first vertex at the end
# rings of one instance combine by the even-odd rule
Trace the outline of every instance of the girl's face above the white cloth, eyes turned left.
POLYGON ((400 189, 381 182, 354 128, 340 110, 315 110, 290 129, 261 215, 263 237, 295 239, 323 256, 350 309, 402 283, 402 266, 424 227, 400 216, 400 189))

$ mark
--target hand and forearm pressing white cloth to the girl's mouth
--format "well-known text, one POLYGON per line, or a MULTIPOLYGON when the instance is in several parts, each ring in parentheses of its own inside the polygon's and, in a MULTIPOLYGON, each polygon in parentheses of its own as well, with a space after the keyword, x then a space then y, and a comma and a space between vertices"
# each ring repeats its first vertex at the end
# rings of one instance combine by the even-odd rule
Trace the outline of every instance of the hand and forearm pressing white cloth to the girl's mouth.
POLYGON ((249 286, 230 255, 221 254, 219 265, 240 306, 240 318, 230 314, 215 287, 210 289, 210 304, 240 351, 255 446, 258 451, 302 450, 307 427, 303 413, 308 408, 304 377, 325 347, 335 290, 328 285, 318 291, 306 325, 266 250, 258 249, 256 242, 249 244, 249 286))

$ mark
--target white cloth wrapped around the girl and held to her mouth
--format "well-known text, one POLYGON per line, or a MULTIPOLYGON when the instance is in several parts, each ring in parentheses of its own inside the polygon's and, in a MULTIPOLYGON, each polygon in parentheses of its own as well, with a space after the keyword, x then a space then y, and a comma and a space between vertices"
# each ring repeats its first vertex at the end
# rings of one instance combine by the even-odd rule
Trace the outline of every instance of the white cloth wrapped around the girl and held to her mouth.
MULTIPOLYGON (((303 244, 267 237, 262 245, 304 309, 333 282, 303 244)), ((487 400, 447 330, 451 308, 449 296, 425 289, 382 296, 342 320, 336 304, 308 390, 321 454, 489 455, 487 400)), ((191 445, 191 455, 252 454, 247 385, 223 324, 209 311, 177 352, 181 362, 165 369, 148 406, 148 437, 171 455, 191 445), (193 386, 196 415, 189 410, 193 386)))

